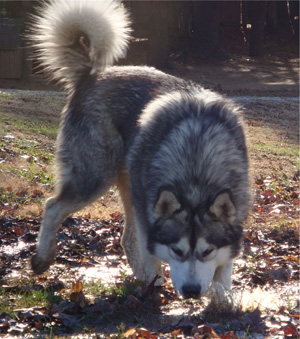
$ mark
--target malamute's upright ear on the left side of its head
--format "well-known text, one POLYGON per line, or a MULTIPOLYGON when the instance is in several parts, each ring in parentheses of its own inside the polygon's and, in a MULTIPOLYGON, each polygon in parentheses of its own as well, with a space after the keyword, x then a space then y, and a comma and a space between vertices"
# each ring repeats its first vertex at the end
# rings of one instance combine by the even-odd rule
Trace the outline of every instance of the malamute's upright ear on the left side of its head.
POLYGON ((154 208, 154 217, 156 219, 168 217, 180 209, 180 204, 174 193, 163 190, 160 192, 154 208))

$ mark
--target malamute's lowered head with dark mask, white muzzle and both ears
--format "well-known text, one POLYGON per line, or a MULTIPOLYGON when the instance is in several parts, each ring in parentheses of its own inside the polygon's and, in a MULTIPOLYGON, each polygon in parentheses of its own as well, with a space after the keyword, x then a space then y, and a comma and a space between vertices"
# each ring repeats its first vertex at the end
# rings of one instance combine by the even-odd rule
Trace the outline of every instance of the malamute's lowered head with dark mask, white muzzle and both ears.
POLYGON ((181 204, 171 190, 160 192, 149 250, 170 265, 174 287, 183 297, 201 296, 216 269, 239 253, 242 228, 234 226, 235 218, 230 191, 219 192, 205 207, 194 210, 181 204))

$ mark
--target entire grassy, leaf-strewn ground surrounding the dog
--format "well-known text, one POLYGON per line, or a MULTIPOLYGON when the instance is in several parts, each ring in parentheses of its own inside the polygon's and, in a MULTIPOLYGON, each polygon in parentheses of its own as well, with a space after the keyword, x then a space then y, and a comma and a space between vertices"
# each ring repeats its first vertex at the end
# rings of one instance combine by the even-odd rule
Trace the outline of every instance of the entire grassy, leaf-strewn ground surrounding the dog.
MULTIPOLYGON (((28 260, 43 203, 53 192, 54 143, 66 97, 8 90, 57 89, 43 78, 1 81, 0 333, 28 338, 72 333, 86 338, 297 337, 299 64, 293 55, 193 59, 170 71, 237 101, 249 139, 253 209, 244 250, 235 263, 232 294, 216 286, 210 305, 209 298, 183 301, 169 281, 157 289, 130 278, 119 243, 123 215, 114 188, 63 223, 57 263, 49 272, 31 273, 28 260)), ((165 272, 168 276, 167 267, 165 272)))

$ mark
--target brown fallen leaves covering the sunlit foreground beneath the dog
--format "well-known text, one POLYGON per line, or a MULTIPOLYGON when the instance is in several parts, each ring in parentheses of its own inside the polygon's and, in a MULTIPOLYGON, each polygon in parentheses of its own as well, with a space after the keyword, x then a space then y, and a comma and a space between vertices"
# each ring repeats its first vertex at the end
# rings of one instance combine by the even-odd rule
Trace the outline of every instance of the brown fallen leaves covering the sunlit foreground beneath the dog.
MULTIPOLYGON (((136 281, 120 245, 123 215, 119 212, 111 214, 110 220, 66 219, 58 232, 56 264, 42 276, 31 273, 28 263, 41 218, 5 215, 0 219, 0 334, 296 338, 300 318, 299 232, 288 221, 280 227, 260 227, 261 220, 277 208, 295 217, 298 204, 294 200, 299 190, 294 179, 289 182, 289 193, 278 188, 273 179, 256 179, 259 198, 254 222, 247 229, 243 253, 234 266, 230 298, 238 300, 235 307, 232 300, 224 303, 224 296, 221 293, 218 297, 216 291, 212 294, 214 302, 209 304, 205 297, 182 300, 170 280, 163 287, 136 281), (277 187, 276 194, 269 188, 271 183, 277 187), (97 267, 97 279, 89 280, 86 272, 97 267), (101 273, 105 269, 108 274, 101 273), (247 293, 252 300, 243 309, 247 293), (27 306, 22 298, 29 300, 27 306)), ((168 267, 165 274, 169 274, 168 267)))

